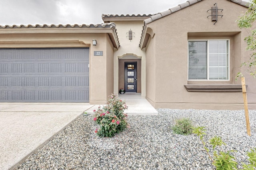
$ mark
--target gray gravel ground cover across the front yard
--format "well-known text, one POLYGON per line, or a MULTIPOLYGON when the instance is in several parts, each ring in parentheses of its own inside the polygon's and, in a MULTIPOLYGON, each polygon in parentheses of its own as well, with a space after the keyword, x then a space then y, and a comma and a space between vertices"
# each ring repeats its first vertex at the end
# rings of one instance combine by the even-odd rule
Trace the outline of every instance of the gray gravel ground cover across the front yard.
POLYGON ((243 110, 158 109, 158 112, 158 115, 128 115, 130 127, 112 138, 98 137, 93 115, 81 115, 15 170, 214 169, 199 137, 172 133, 175 120, 183 117, 190 118, 194 126, 206 127, 205 141, 216 135, 222 137, 227 145, 220 150, 237 150, 234 156, 238 162, 246 162, 246 152, 256 147, 256 110, 249 111, 250 137, 243 110))

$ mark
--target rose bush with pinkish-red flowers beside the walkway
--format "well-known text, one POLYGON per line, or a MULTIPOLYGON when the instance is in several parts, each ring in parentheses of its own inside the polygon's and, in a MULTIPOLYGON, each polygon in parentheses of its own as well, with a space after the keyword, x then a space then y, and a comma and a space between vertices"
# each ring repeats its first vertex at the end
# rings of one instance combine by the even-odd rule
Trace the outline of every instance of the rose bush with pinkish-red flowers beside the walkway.
POLYGON ((127 108, 125 102, 120 100, 117 95, 108 96, 107 105, 94 110, 93 120, 100 125, 95 133, 100 137, 113 137, 116 133, 126 129, 128 123, 124 110, 127 108))

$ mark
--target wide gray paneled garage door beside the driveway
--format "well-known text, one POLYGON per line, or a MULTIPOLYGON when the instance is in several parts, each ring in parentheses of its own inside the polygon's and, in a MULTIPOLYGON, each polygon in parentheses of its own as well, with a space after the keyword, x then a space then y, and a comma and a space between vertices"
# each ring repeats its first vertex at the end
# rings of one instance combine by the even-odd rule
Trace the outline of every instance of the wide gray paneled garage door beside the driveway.
POLYGON ((0 102, 89 102, 89 49, 0 49, 0 102))

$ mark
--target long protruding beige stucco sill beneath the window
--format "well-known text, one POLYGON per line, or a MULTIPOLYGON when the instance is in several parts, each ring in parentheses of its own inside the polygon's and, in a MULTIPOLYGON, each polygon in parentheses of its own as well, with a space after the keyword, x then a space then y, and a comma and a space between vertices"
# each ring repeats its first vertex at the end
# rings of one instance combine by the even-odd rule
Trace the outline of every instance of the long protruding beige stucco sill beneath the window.
POLYGON ((184 84, 188 92, 242 92, 241 84, 184 84))

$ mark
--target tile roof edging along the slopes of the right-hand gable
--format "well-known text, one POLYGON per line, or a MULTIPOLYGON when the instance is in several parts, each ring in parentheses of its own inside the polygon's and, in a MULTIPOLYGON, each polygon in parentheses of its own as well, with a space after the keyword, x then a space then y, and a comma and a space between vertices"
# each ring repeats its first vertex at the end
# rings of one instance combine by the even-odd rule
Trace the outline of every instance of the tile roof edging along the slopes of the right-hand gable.
MULTIPOLYGON (((142 43, 142 38, 143 38, 143 35, 144 35, 144 32, 145 32, 146 24, 148 24, 150 22, 153 22, 155 20, 158 20, 160 18, 163 18, 165 16, 168 16, 168 15, 174 13, 174 12, 182 10, 183 8, 191 6, 191 5, 193 5, 193 4, 197 3, 197 2, 200 2, 200 1, 202 1, 202 0, 188 0, 187 2, 179 4, 178 6, 170 8, 169 10, 166 10, 164 12, 160 12, 160 13, 158 13, 156 15, 152 15, 148 19, 144 20, 144 24, 143 24, 143 28, 142 28, 142 34, 141 34, 139 46, 141 47, 141 45, 142 45, 141 43, 142 43)), ((243 1, 243 0, 228 0, 228 1, 234 2, 236 4, 240 4, 240 5, 245 6, 245 7, 249 7, 250 6, 249 2, 246 2, 246 1, 243 1)))

